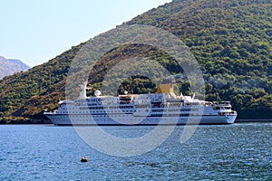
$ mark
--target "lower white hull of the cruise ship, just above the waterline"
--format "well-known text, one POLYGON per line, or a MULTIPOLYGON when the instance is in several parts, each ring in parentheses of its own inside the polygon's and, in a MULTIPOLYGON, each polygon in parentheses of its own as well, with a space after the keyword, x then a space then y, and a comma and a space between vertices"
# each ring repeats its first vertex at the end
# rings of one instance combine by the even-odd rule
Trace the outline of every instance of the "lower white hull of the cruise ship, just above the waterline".
POLYGON ((232 124, 237 115, 204 115, 190 117, 134 117, 127 115, 122 118, 109 116, 92 117, 91 115, 46 115, 54 125, 58 126, 118 126, 118 125, 185 125, 185 124, 232 124), (199 118, 200 117, 200 118, 199 118))

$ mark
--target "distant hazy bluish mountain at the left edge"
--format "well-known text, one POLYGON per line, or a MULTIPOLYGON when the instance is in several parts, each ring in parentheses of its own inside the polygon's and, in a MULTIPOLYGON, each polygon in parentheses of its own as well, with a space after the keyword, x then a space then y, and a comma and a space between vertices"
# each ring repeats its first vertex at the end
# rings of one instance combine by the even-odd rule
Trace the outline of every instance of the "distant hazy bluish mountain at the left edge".
POLYGON ((29 69, 30 67, 20 60, 5 59, 5 57, 0 56, 0 80, 7 75, 12 75, 19 71, 27 71, 29 69))

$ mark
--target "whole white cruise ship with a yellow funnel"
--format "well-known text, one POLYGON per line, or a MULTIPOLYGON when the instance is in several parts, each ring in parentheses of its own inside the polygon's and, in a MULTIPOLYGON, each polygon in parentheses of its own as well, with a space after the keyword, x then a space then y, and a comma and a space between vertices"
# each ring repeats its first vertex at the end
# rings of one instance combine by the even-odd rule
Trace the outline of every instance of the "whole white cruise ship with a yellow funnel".
POLYGON ((44 116, 58 126, 80 125, 184 125, 232 124, 238 114, 229 101, 210 102, 195 96, 177 96, 172 83, 161 84, 156 93, 86 96, 87 82, 76 100, 61 100, 58 109, 44 116))

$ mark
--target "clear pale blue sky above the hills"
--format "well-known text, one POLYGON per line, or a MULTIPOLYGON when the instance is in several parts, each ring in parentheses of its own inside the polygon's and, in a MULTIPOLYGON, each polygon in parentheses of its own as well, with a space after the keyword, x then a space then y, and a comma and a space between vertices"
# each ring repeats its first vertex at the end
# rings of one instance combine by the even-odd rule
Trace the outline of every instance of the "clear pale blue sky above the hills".
POLYGON ((0 56, 34 67, 170 1, 0 0, 0 56))

